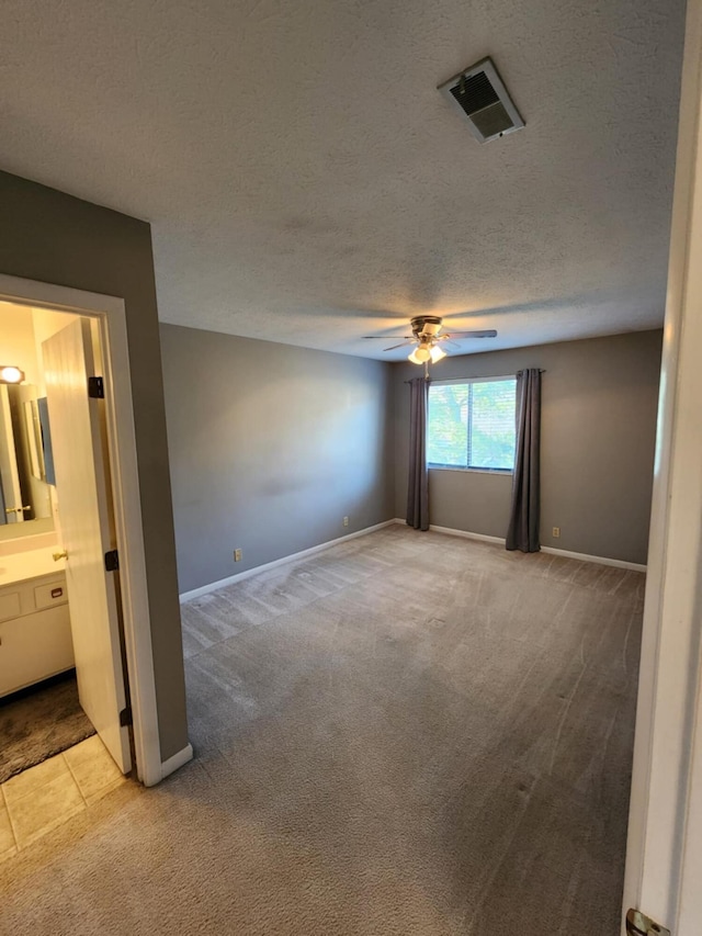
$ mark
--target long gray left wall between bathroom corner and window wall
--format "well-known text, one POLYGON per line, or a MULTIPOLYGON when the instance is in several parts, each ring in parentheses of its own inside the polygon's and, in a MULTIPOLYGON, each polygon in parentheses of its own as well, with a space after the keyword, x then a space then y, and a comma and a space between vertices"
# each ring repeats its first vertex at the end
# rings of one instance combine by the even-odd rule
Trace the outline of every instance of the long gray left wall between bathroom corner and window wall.
POLYGON ((161 346, 181 591, 392 519, 389 364, 173 325, 161 346))

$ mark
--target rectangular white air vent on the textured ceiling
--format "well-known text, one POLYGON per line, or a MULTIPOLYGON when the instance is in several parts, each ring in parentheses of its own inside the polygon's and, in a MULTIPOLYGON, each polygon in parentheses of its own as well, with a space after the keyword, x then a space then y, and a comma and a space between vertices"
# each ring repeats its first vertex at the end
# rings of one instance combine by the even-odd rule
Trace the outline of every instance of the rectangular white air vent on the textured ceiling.
POLYGON ((489 58, 455 75, 438 90, 468 119, 473 136, 480 143, 524 126, 489 58))

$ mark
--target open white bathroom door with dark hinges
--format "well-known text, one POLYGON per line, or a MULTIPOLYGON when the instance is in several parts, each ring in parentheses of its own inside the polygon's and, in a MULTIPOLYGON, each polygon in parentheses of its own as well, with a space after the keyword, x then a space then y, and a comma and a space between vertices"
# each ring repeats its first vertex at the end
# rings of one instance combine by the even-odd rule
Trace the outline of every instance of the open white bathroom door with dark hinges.
POLYGON ((90 322, 79 318, 42 345, 52 426, 58 522, 80 704, 117 766, 131 769, 115 573, 105 571, 111 525, 90 322))

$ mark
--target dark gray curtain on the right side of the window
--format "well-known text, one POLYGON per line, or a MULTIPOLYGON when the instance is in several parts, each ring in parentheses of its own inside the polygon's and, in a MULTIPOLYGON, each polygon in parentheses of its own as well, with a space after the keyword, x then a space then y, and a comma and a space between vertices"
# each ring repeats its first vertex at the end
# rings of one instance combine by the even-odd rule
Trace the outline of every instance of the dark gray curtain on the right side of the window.
POLYGON ((517 374, 517 451, 512 478, 512 509, 507 549, 535 553, 541 509, 541 371, 532 368, 517 374))

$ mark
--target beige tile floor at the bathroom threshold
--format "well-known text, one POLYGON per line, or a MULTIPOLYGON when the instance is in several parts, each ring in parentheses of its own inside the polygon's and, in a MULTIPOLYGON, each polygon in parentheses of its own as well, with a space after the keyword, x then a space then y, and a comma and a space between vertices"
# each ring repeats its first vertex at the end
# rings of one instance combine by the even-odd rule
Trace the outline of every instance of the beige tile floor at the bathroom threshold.
POLYGON ((0 861, 126 782, 95 734, 0 785, 0 861))

